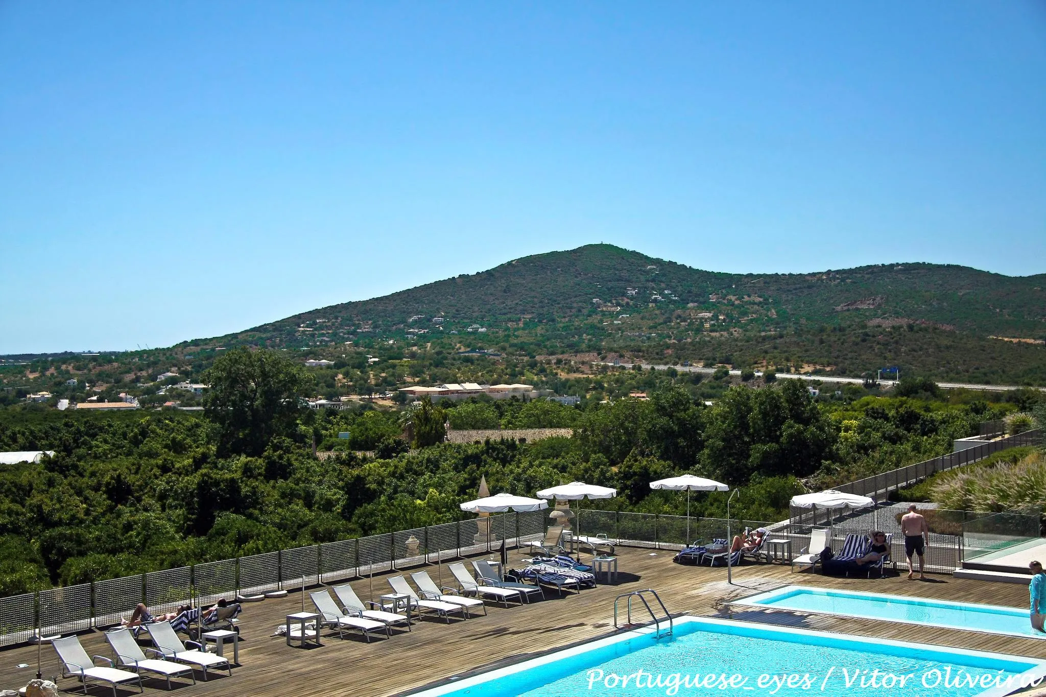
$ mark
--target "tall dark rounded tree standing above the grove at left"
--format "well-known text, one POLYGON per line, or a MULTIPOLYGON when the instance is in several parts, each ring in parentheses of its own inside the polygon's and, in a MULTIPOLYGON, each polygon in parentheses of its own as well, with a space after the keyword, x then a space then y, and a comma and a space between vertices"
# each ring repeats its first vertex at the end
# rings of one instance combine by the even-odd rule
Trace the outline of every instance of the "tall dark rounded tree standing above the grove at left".
POLYGON ((303 368, 277 351, 233 349, 203 374, 204 415, 218 426, 220 456, 260 455, 276 436, 294 434, 312 387, 303 368))

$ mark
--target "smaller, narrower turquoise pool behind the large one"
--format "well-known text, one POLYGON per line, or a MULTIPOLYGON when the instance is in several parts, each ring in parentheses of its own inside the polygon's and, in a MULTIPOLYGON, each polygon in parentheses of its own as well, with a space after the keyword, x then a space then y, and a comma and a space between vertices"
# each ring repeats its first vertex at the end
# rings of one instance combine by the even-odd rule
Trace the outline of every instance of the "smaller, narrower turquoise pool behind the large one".
POLYGON ((1002 605, 956 603, 948 600, 884 596, 801 585, 786 586, 746 598, 734 604, 1046 638, 1042 632, 1031 628, 1027 608, 1002 605))

